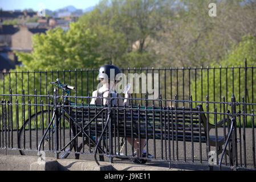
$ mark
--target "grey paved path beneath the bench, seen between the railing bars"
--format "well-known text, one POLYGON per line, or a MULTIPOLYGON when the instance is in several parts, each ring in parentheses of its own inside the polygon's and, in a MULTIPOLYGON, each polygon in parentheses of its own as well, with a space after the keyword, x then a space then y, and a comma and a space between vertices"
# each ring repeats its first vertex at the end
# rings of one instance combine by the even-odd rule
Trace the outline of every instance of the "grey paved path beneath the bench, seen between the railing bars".
MULTIPOLYGON (((215 131, 211 131, 214 132, 215 131)), ((255 133, 256 133, 256 130, 255 130, 255 133)), ((1 133, 1 140, 0 140, 0 144, 1 144, 1 147, 4 147, 5 146, 5 143, 7 144, 7 147, 13 147, 13 148, 17 148, 17 131, 13 131, 13 136, 9 135, 9 133, 6 133, 6 142, 5 140, 5 133, 1 133), (4 135, 2 135, 4 134, 4 135), (10 138, 10 139, 9 139, 10 138), (13 141, 13 146, 11 145, 13 141)), ((67 133, 66 133, 67 134, 67 133)), ((222 128, 219 128, 218 129, 218 134, 219 135, 223 135, 223 129, 222 128)), ((241 133, 243 134, 243 133, 241 133)), ((30 141, 30 135, 26 133, 26 148, 29 147, 29 141, 30 141)), ((39 143, 40 141, 40 137, 42 137, 42 134, 38 135, 38 142, 37 144, 39 143)), ((250 168, 253 168, 254 164, 253 164, 253 141, 252 141, 252 129, 246 129, 246 132, 245 132, 245 137, 246 137, 246 165, 247 167, 250 167, 250 168)), ((68 137, 66 137, 68 138, 68 137)), ((238 138, 239 138, 239 130, 238 130, 238 138)), ((31 133, 31 148, 32 149, 36 149, 36 133, 35 131, 32 131, 31 133)), ((240 164, 240 162, 242 162, 242 166, 244 166, 244 156, 243 156, 243 140, 240 140, 241 141, 241 147, 242 147, 242 151, 240 152, 239 150, 239 144, 238 143, 238 163, 240 164), (240 160, 240 154, 242 156, 242 161, 240 160)), ((66 143, 68 142, 68 140, 66 139, 66 143)), ((52 143, 51 143, 52 144, 52 143)), ((200 144, 199 143, 193 143, 194 146, 193 146, 193 153, 194 153, 194 162, 196 163, 200 163, 200 155, 202 156, 202 163, 204 164, 208 164, 208 160, 206 158, 206 144, 205 143, 202 143, 202 147, 200 148, 200 144)), ((254 141, 254 144, 255 141, 254 141)), ((62 143, 62 146, 63 146, 63 143, 62 143)), ((155 143, 155 148, 156 148, 156 153, 154 152, 154 141, 152 139, 149 140, 148 142, 148 146, 149 146, 149 154, 152 154, 152 155, 156 155, 156 158, 158 159, 161 159, 161 160, 168 160, 169 159, 169 154, 170 154, 170 159, 171 161, 174 160, 177 160, 177 157, 178 157, 178 160, 180 160, 182 163, 180 164, 176 164, 174 161, 172 162, 172 166, 171 167, 174 167, 174 168, 180 168, 180 169, 196 169, 196 170, 208 170, 208 166, 202 166, 202 165, 194 165, 194 164, 184 164, 183 162, 192 162, 192 143, 191 142, 178 142, 178 154, 176 152, 176 141, 174 141, 174 146, 173 146, 173 143, 172 141, 170 141, 170 153, 169 153, 169 141, 168 140, 164 140, 162 141, 161 143, 161 140, 156 140, 156 143, 155 143), (185 152, 184 152, 184 144, 185 144, 185 152), (161 151, 161 148, 163 148, 163 150, 161 151), (166 150, 165 150, 166 148, 166 150), (173 150, 174 148, 174 150, 173 150), (173 154, 174 154, 174 158, 173 158, 173 154)), ((127 153, 128 154, 131 154, 131 145, 130 144, 127 144, 127 153)), ((212 147, 211 150, 215 150, 215 147, 212 147)), ((88 147, 84 147, 84 152, 89 152, 89 148, 88 147)), ((255 152, 255 151, 254 151, 255 152)), ((19 151, 17 150, 1 150, 0 149, 0 155, 20 155, 19 154, 19 151)), ((37 155, 37 151, 29 151, 27 155, 34 155, 36 156, 37 155)), ((46 152, 46 156, 48 157, 54 157, 54 154, 52 154, 51 152, 46 152)), ((218 156, 220 158, 220 155, 218 156)), ((108 158, 105 156, 105 161, 108 162, 108 158)), ((75 156, 74 154, 70 154, 68 156, 68 159, 75 159, 75 156)), ((80 159, 83 159, 83 160, 92 160, 94 161, 94 156, 93 155, 86 155, 86 154, 81 154, 80 155, 80 159)), ((113 159, 113 162, 114 163, 121 163, 121 164, 132 164, 132 161, 131 159, 117 159, 117 158, 114 158, 113 159)), ((225 164, 225 158, 224 160, 222 160, 222 164, 225 164)), ((227 159, 227 164, 228 164, 228 159, 227 159)), ((169 168, 169 163, 168 162, 160 162, 159 160, 151 160, 149 162, 147 162, 146 165, 151 165, 151 166, 158 166, 158 167, 166 167, 166 168, 169 168)))

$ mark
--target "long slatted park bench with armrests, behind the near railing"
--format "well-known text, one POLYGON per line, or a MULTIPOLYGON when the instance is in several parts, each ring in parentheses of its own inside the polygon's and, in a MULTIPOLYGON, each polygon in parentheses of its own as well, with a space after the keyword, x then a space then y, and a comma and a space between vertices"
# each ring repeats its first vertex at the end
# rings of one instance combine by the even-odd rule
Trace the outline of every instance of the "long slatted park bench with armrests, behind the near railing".
MULTIPOLYGON (((99 153, 113 155, 112 140, 109 140, 109 148, 103 149, 100 140, 103 138, 144 138, 154 140, 185 141, 208 144, 217 148, 217 154, 221 154, 226 137, 210 135, 209 131, 216 125, 206 119, 202 105, 196 108, 188 107, 145 107, 145 106, 96 106, 77 105, 70 106, 70 115, 74 118, 72 125, 73 134, 76 137, 84 137, 83 144, 87 143, 95 147, 99 153), (209 136, 209 137, 207 137, 209 136), (88 142, 90 137, 90 142, 88 142)), ((224 125, 224 121, 230 126, 230 119, 225 118, 217 122, 217 127, 224 125)), ((75 141, 75 138, 74 138, 75 141)), ((75 148, 76 152, 82 149, 75 148)), ((232 151, 232 150, 231 150, 232 151)), ((230 151, 230 152, 231 152, 230 151)), ((117 151, 115 155, 119 155, 117 151)), ((115 156, 113 155, 113 156, 115 156)), ((232 155, 229 155, 230 158, 232 155)), ((102 159, 102 158, 101 158, 102 159)))

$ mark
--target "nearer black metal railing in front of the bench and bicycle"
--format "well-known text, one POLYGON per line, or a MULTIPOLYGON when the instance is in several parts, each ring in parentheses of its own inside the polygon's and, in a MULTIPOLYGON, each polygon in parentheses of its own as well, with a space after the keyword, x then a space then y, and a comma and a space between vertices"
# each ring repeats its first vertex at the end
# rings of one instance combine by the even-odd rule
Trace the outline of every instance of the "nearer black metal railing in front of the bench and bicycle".
MULTIPOLYGON (((253 107, 255 104, 246 103, 245 100, 237 102, 234 96, 231 102, 193 101, 192 97, 190 100, 177 100, 177 96, 174 100, 154 100, 159 106, 147 105, 150 101, 147 98, 130 99, 133 102, 142 101, 143 105, 95 106, 83 102, 64 105, 59 102, 62 99, 57 94, 4 96, 9 98, 1 101, 0 107, 0 147, 5 151, 17 150, 21 154, 30 155, 32 151, 41 150, 53 152, 57 158, 60 158, 59 154, 77 156, 103 153, 110 156, 112 162, 115 157, 135 158, 131 155, 136 151, 136 148, 132 147, 135 143, 133 139, 138 138, 140 142, 141 139, 146 140, 144 150, 152 154, 154 160, 255 169, 255 114, 253 110, 250 113, 245 110, 246 106, 253 107), (16 97, 17 100, 13 99, 16 97), (26 101, 26 97, 31 100, 34 98, 35 103, 26 101), (45 97, 47 102, 44 103, 42 99, 36 103, 38 97, 45 97), (165 107, 164 102, 173 102, 174 106, 165 107), (202 107, 203 110, 195 110, 197 107, 194 105, 202 105, 202 102, 206 105, 205 109, 202 107), (210 109, 211 105, 216 106, 214 110, 210 109), (239 106, 241 110, 237 109, 239 106), (218 107, 222 107, 222 111, 218 110, 218 107), (228 107, 231 109, 228 110, 228 107), (60 114, 62 109, 66 109, 66 113, 60 114), (56 110, 59 120, 57 117, 52 118, 56 110), (108 113, 111 117, 110 123, 107 123, 108 113), (205 115, 205 121, 199 115, 205 115), (232 121, 232 125, 225 121, 223 125, 216 127, 218 121, 224 118, 232 121), (246 118, 247 122, 251 123, 250 127, 246 126, 246 118), (90 121, 91 123, 88 123, 90 121), (212 130, 208 130, 210 126, 214 126, 212 130), (78 138, 74 138, 76 136, 78 138), (92 139, 88 140, 88 136, 92 139), (129 138, 132 138, 133 143, 128 142, 129 138), (86 139, 87 142, 83 142, 86 139), (218 144, 220 140, 221 147, 218 144), (95 145, 98 142, 101 149, 96 151, 95 145), (68 149, 70 143, 72 150, 68 149), (122 147, 124 150, 120 151, 122 147), (225 152, 221 155, 224 151, 222 149, 225 149, 225 152), (214 160, 211 159, 211 151, 218 154, 213 155, 214 160)), ((91 100, 93 97, 68 98, 91 100)), ((142 154, 143 148, 140 147, 139 152, 142 154)), ((144 158, 147 159, 148 156, 144 158)))

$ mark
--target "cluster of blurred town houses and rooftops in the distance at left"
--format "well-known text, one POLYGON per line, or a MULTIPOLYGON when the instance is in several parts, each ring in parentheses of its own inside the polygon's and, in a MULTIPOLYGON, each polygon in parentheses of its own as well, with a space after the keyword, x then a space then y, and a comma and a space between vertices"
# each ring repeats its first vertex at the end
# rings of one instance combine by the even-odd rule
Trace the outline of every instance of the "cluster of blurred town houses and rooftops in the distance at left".
POLYGON ((39 17, 33 11, 0 10, 0 72, 15 69, 21 64, 14 51, 31 52, 32 36, 45 34, 47 30, 60 27, 67 31, 70 22, 76 22, 82 11, 75 13, 58 12, 58 16, 39 17))

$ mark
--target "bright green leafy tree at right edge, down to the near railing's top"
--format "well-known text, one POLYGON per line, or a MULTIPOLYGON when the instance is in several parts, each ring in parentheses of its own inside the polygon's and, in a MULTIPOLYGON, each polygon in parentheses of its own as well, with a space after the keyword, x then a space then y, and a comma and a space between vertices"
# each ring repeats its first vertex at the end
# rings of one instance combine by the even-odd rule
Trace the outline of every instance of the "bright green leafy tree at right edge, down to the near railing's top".
MULTIPOLYGON (((197 87, 197 90, 203 90, 204 93, 204 99, 206 96, 209 96, 209 100, 213 101, 214 100, 214 95, 213 95, 213 89, 216 90, 216 101, 217 98, 221 98, 223 96, 227 97, 226 99, 230 101, 230 98, 232 94, 237 97, 237 100, 239 100, 239 95, 245 96, 245 59, 247 59, 247 85, 248 85, 248 92, 251 94, 253 90, 250 88, 252 80, 252 69, 250 67, 255 66, 256 64, 256 38, 248 35, 243 38, 243 41, 240 42, 239 44, 234 44, 233 49, 225 56, 225 58, 220 61, 220 64, 218 63, 212 63, 210 65, 210 68, 231 68, 228 69, 227 73, 225 69, 221 70, 221 82, 220 82, 220 69, 216 69, 215 71, 215 80, 213 77, 214 69, 209 69, 209 77, 207 76, 207 72, 204 71, 203 73, 203 82, 201 88, 201 82, 195 85, 193 82, 193 91, 197 87), (232 68, 234 67, 234 73, 232 68), (240 69, 239 69, 240 67, 240 69), (240 70, 240 73, 239 73, 240 70), (227 77, 227 80, 226 80, 227 77), (209 85, 208 85, 208 78, 209 78, 209 85), (239 79, 240 79, 240 84, 239 85, 239 79), (234 82, 234 87, 233 87, 233 82, 234 82), (213 86, 214 84, 214 86, 213 86), (209 94, 208 94, 208 86, 210 88, 209 94), (226 92, 226 87, 227 92, 226 92), (240 88, 240 92, 239 92, 240 88), (219 90, 222 90, 222 93, 219 92, 219 90)), ((198 77, 198 80, 201 80, 201 77, 198 77)), ((199 81, 198 81, 199 82, 199 81)), ((193 92, 192 92, 193 93, 193 92)), ((198 92, 197 98, 200 98, 200 93, 198 92)), ((195 96, 195 95, 194 95, 195 96)), ((255 97, 255 96, 254 96, 255 97)), ((251 98, 251 100, 254 100, 256 98, 251 98)), ((240 98, 241 100, 241 98, 240 98)))

